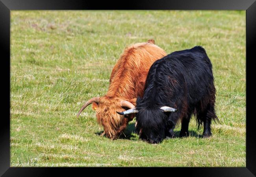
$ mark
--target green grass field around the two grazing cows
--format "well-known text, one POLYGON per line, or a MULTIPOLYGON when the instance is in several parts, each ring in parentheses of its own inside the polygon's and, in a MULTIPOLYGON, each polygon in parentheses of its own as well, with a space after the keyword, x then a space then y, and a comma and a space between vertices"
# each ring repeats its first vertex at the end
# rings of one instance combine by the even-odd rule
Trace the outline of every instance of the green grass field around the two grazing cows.
POLYGON ((245 167, 245 81, 245 11, 11 11, 10 165, 245 167), (211 138, 194 118, 190 137, 157 145, 138 139, 135 120, 110 140, 91 107, 76 118, 106 94, 123 49, 151 38, 167 53, 206 49, 220 120, 211 138))

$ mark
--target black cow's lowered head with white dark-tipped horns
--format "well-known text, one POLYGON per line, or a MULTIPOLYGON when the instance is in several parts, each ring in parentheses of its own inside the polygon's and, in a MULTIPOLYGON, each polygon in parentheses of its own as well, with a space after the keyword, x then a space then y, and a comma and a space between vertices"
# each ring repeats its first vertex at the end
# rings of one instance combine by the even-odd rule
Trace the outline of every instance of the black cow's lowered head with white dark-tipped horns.
POLYGON ((159 143, 167 135, 167 125, 169 128, 174 126, 169 116, 175 111, 177 109, 168 106, 148 107, 137 102, 137 107, 117 113, 121 115, 136 113, 136 132, 139 133, 139 138, 149 143, 159 143))

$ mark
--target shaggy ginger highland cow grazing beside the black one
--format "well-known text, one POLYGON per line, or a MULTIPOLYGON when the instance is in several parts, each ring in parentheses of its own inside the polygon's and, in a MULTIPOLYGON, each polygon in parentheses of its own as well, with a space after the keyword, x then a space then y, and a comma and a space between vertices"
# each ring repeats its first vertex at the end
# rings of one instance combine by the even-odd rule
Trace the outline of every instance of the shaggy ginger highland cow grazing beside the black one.
POLYGON ((165 55, 165 51, 156 46, 153 39, 127 47, 111 72, 107 94, 88 100, 77 117, 92 103, 97 122, 104 127, 102 135, 118 138, 135 114, 122 116, 116 111, 135 107, 137 97, 143 96, 150 66, 165 55))

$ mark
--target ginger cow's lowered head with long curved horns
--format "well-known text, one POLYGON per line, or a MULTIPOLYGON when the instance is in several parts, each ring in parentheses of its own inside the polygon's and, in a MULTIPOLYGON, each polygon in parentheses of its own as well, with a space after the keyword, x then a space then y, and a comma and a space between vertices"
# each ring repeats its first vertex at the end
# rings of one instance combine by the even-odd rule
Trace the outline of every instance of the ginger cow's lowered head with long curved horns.
POLYGON ((113 98, 109 96, 91 98, 80 109, 77 117, 83 109, 90 104, 92 104, 93 110, 96 111, 98 124, 104 127, 102 135, 106 135, 108 138, 117 137, 117 133, 119 133, 119 129, 123 124, 125 117, 134 117, 134 114, 124 116, 116 113, 134 108, 132 103, 122 100, 121 98, 113 98))

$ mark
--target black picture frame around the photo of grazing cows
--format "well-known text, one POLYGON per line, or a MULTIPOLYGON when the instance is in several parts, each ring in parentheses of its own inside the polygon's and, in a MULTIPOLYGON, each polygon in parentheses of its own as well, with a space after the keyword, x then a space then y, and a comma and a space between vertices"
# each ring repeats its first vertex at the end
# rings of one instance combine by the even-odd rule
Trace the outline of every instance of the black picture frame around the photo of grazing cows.
MULTIPOLYGON (((87 10, 87 9, 169 9, 169 10, 246 10, 246 167, 223 167, 223 168, 142 168, 148 172, 160 171, 160 174, 183 174, 195 176, 246 176, 256 175, 256 138, 254 133, 255 117, 255 83, 254 83, 254 50, 256 49, 256 2, 255 0, 130 0, 127 3, 120 2, 96 2, 84 0, 0 0, 0 44, 2 49, 2 113, 1 118, 1 140, 0 140, 0 175, 3 176, 48 176, 54 172, 71 172, 78 174, 78 170, 92 172, 93 175, 99 168, 35 168, 35 167, 10 167, 10 114, 8 114, 8 101, 11 107, 11 96, 4 94, 10 93, 10 11, 11 10, 87 10), (8 74, 9 73, 9 74, 8 74), (8 88, 9 85, 9 88, 8 88), (8 91, 9 90, 9 91, 8 91)), ((134 175, 130 170, 139 168, 100 168, 100 170, 115 170, 111 174, 134 175), (128 171, 129 170, 129 171, 128 171)), ((141 170, 141 169, 139 169, 141 170)))

